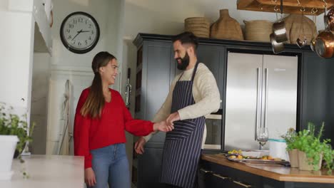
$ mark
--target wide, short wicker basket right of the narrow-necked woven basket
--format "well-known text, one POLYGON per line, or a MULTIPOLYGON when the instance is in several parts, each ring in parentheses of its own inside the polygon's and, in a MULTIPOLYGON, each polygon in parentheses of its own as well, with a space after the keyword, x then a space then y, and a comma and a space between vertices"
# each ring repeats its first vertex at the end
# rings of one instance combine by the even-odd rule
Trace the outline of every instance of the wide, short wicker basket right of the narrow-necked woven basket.
POLYGON ((270 42, 273 23, 266 20, 243 21, 245 23, 245 40, 270 42))

